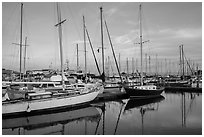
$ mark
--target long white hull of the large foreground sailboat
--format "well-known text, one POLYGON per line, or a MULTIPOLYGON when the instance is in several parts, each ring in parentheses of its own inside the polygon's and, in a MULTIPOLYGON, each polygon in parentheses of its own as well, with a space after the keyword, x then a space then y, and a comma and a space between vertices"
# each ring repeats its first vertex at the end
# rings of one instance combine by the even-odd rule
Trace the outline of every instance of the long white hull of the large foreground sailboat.
MULTIPOLYGON (((100 89, 102 90, 102 89, 100 89)), ((15 113, 40 111, 59 107, 69 107, 94 100, 100 90, 78 94, 73 96, 51 97, 37 100, 19 101, 15 103, 3 103, 2 114, 9 115, 15 113)))

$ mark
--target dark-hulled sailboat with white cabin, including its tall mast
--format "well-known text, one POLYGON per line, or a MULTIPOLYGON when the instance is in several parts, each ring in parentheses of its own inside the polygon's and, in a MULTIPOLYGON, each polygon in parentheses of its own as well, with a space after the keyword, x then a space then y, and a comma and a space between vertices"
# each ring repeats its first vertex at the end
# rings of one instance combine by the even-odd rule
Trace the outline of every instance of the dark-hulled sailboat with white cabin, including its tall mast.
POLYGON ((164 88, 163 87, 158 87, 155 85, 143 85, 143 74, 142 74, 142 44, 144 43, 142 41, 142 21, 141 21, 141 8, 142 5, 140 4, 139 6, 139 11, 140 11, 140 48, 141 48, 141 71, 140 71, 140 85, 125 85, 124 89, 126 93, 130 97, 135 97, 135 98, 151 98, 151 97, 156 97, 160 96, 160 94, 163 92, 164 88))

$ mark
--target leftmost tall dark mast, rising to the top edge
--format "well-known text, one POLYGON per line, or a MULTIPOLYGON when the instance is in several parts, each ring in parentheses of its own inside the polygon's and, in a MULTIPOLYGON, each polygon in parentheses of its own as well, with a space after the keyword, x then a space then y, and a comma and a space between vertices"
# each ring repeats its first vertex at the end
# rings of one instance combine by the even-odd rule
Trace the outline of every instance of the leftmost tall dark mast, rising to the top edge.
POLYGON ((23 33, 23 3, 21 3, 21 27, 20 27, 20 81, 21 81, 21 59, 22 59, 22 33, 23 33))

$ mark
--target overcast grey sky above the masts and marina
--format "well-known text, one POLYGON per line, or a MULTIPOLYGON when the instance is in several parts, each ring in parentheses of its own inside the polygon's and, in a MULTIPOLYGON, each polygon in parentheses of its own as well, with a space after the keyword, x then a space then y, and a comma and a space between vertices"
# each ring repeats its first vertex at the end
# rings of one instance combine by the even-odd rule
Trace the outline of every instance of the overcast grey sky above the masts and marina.
MULTIPOLYGON (((84 69, 84 46, 82 16, 101 67, 100 10, 110 31, 116 56, 121 56, 121 67, 125 70, 126 60, 129 67, 132 58, 139 66, 139 4, 138 2, 111 3, 60 3, 63 23, 64 62, 69 61, 71 69, 76 68, 76 44, 79 44, 81 68, 84 69)), ((25 2, 23 8, 23 41, 27 37, 26 69, 60 68, 56 3, 25 2), (52 65, 51 65, 52 64, 52 65)), ((158 62, 179 60, 179 45, 184 45, 185 56, 199 63, 202 62, 202 3, 201 2, 145 2, 142 3, 143 40, 150 42, 143 45, 144 54, 151 57, 154 64, 157 54, 158 62)), ((3 2, 2 4, 2 67, 19 70, 20 39, 20 3, 3 2)), ((105 57, 113 56, 104 25, 105 57)), ((97 72, 93 55, 87 41, 88 70, 97 72)), ((145 56, 143 56, 145 62, 145 56)), ((173 63, 172 63, 173 64, 173 63)), ((174 65, 173 64, 173 65, 174 65)), ((172 67, 172 66, 171 66, 172 67)), ((102 68, 102 67, 101 67, 102 68)), ((114 68, 115 69, 115 68, 114 68)), ((161 68, 162 69, 162 68, 161 68)), ((174 67, 176 71, 177 67, 174 67)), ((153 70, 153 68, 152 68, 153 70)), ((161 70, 162 71, 162 70, 161 70)))

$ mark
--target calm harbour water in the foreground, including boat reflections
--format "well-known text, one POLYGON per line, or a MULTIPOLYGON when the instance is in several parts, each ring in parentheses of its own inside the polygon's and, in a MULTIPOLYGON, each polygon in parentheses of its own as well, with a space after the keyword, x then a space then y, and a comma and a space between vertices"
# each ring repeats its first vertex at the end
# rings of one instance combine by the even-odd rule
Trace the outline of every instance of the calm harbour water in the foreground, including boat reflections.
POLYGON ((2 134, 202 134, 202 94, 167 93, 155 99, 100 102, 74 110, 2 120, 2 134))

